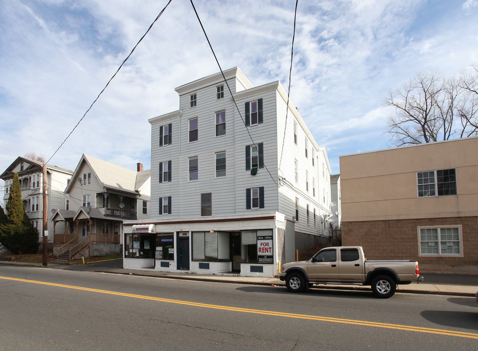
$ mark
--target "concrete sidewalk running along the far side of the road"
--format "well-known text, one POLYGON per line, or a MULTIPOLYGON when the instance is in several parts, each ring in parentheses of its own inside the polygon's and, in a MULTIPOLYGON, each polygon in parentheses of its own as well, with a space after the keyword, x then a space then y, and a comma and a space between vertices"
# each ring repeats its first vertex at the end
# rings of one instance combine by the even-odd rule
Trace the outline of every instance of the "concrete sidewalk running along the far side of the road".
MULTIPOLYGON (((98 264, 100 262, 94 262, 98 264)), ((19 262, 3 262, 1 265, 14 265, 24 267, 42 267, 41 264, 31 263, 19 263, 19 262)), ((196 273, 170 273, 159 272, 155 270, 132 270, 123 268, 105 268, 98 267, 98 269, 91 269, 90 264, 78 264, 78 265, 59 265, 49 264, 46 268, 65 269, 75 271, 90 271, 109 274, 124 274, 124 275, 136 275, 154 278, 165 279, 183 279, 183 280, 198 280, 208 281, 216 283, 233 283, 233 284, 249 284, 249 285, 263 285, 263 286, 282 286, 285 287, 285 283, 276 277, 245 277, 234 274, 196 274, 196 273)), ((454 295, 454 296, 470 296, 475 297, 478 292, 478 276, 476 275, 460 275, 455 274, 429 274, 430 282, 427 282, 427 274, 423 274, 425 281, 423 283, 412 283, 409 285, 397 286, 397 293, 422 293, 422 294, 437 294, 437 295, 454 295), (433 281, 433 283, 432 283, 433 281), (452 282, 452 283, 450 283, 452 282), (472 285, 470 285, 472 284, 472 285)), ((313 289, 328 289, 328 290, 357 290, 357 291, 370 291, 370 287, 357 286, 357 285, 315 285, 313 289)))

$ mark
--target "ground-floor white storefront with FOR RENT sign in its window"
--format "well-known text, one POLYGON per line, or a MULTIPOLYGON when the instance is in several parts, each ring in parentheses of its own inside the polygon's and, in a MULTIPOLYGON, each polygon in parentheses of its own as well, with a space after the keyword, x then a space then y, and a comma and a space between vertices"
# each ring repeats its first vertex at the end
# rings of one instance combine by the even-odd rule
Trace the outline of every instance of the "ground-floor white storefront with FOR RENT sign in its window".
POLYGON ((183 273, 277 275, 284 215, 125 221, 123 267, 183 273))

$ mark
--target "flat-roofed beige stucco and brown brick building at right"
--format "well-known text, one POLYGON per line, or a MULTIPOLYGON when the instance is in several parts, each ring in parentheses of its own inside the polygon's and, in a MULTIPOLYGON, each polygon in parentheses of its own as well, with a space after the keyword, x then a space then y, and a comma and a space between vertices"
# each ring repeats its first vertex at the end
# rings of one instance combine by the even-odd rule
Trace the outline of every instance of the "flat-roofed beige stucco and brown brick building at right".
POLYGON ((342 243, 478 273, 478 137, 340 157, 342 243))

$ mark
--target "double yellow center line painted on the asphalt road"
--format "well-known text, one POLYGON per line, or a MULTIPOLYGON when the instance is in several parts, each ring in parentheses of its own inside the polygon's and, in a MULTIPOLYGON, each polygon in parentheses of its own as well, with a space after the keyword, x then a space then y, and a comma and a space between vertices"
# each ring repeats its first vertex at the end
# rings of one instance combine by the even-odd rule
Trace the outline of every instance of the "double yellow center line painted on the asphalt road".
POLYGON ((199 303, 199 302, 172 300, 172 299, 166 299, 166 298, 162 298, 162 297, 136 295, 136 294, 130 294, 130 293, 126 293, 126 292, 114 292, 114 291, 108 291, 108 290, 83 288, 83 287, 74 286, 74 285, 48 283, 48 282, 42 282, 42 281, 37 281, 37 280, 10 278, 10 277, 3 277, 3 276, 0 276, 0 279, 20 281, 20 282, 24 282, 24 283, 49 285, 49 286, 54 286, 54 287, 58 287, 58 288, 83 290, 83 291, 87 291, 87 292, 100 292, 100 293, 105 293, 105 294, 110 294, 110 295, 134 297, 134 298, 140 298, 140 299, 144 299, 144 300, 160 301, 160 302, 174 303, 174 304, 179 304, 179 305, 210 308, 210 309, 216 309, 216 310, 266 314, 266 315, 272 315, 272 316, 278 316, 278 317, 310 319, 310 320, 318 320, 318 321, 324 321, 324 322, 355 324, 355 325, 369 326, 369 327, 376 327, 376 328, 388 328, 388 329, 396 329, 396 330, 404 330, 404 331, 417 331, 417 332, 425 332, 425 333, 431 333, 431 334, 451 335, 451 336, 459 336, 459 337, 465 337, 465 338, 478 339, 478 334, 477 333, 470 333, 470 332, 463 332, 463 331, 448 331, 448 330, 444 330, 444 329, 414 327, 414 326, 407 326, 407 325, 400 325, 400 324, 378 323, 378 322, 359 321, 359 320, 344 319, 344 318, 313 316, 313 315, 308 315, 308 314, 274 312, 274 311, 265 311, 265 310, 252 310, 252 309, 245 309, 245 308, 240 308, 240 307, 210 305, 210 304, 204 304, 204 303, 199 303))

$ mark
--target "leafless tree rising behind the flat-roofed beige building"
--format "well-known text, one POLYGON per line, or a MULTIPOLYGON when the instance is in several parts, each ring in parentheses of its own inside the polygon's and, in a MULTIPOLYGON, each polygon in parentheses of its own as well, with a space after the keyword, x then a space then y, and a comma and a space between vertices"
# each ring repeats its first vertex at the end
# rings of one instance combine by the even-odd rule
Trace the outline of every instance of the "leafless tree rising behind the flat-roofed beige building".
POLYGON ((422 144, 477 135, 477 103, 473 105, 460 79, 438 72, 417 73, 390 91, 385 106, 395 108, 387 133, 396 146, 422 144), (475 119, 473 119, 475 116, 475 119))

